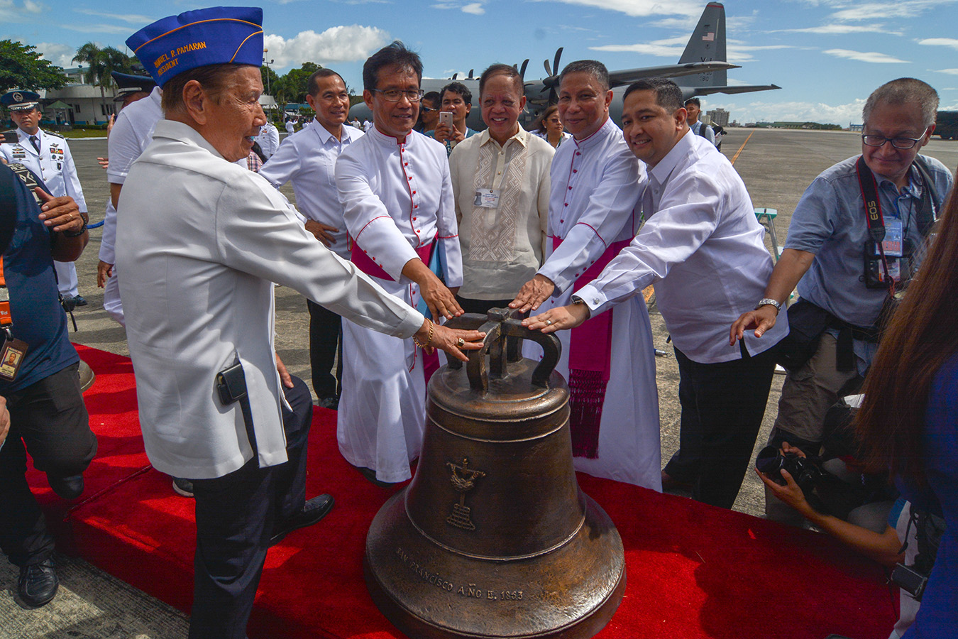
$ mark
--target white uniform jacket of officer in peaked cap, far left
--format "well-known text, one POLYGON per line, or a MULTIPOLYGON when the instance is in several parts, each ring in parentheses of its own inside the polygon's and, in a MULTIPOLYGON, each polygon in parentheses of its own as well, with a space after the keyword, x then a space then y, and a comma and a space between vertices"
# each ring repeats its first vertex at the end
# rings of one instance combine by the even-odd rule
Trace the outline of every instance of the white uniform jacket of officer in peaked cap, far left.
POLYGON ((30 142, 30 135, 21 128, 16 129, 16 135, 19 142, 0 145, 0 155, 9 164, 19 163, 34 171, 50 189, 51 195, 73 197, 80 211, 86 213, 86 200, 83 199, 77 166, 73 163, 73 155, 70 154, 66 140, 41 128, 36 132, 40 145, 40 151, 37 153, 30 142))

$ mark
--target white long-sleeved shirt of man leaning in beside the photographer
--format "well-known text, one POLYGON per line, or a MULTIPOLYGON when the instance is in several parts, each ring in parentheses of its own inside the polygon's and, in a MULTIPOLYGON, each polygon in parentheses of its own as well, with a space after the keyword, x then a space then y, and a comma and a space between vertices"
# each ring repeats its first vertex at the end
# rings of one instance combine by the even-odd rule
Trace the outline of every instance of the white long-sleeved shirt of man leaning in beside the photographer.
MULTIPOLYGON (((739 173, 689 131, 650 169, 647 184, 645 226, 579 296, 596 314, 654 284, 679 351, 702 364, 741 358, 728 344, 729 327, 762 299, 772 259, 739 173)), ((745 346, 759 354, 787 332, 783 313, 761 339, 745 331, 745 346)))

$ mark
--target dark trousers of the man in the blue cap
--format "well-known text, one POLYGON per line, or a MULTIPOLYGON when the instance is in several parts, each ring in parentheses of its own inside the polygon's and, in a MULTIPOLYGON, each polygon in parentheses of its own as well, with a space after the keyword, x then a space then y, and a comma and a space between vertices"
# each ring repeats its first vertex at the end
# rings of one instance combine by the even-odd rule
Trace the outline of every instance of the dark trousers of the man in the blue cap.
POLYGON ((243 639, 276 522, 306 500, 312 399, 302 379, 284 388, 285 464, 260 468, 254 457, 216 479, 194 479, 196 557, 190 639, 243 639))

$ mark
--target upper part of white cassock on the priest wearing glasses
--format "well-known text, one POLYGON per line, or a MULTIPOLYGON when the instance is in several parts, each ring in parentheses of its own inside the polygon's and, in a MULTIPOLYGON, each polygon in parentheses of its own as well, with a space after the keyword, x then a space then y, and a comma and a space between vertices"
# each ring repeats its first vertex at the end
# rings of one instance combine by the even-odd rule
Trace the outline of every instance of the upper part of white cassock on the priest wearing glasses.
POLYGON ((375 126, 336 160, 336 189, 350 237, 399 282, 417 248, 439 240, 445 284, 463 284, 462 253, 445 147, 422 133, 402 143, 375 126))

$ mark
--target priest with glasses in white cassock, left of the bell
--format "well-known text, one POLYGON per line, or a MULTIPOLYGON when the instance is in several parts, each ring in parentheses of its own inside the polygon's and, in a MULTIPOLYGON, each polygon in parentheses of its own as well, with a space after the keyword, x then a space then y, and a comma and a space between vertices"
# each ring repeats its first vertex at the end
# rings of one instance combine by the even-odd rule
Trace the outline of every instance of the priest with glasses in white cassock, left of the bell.
MULTIPOLYGON (((462 258, 445 148, 413 132, 421 79, 422 62, 399 42, 366 61, 363 99, 375 125, 339 155, 336 188, 354 264, 404 303, 422 300, 438 320, 462 314, 454 298, 462 258), (445 258, 445 284, 428 266, 436 251, 445 258)), ((423 359, 412 339, 344 318, 337 437, 367 478, 411 477, 425 426, 423 359)))

